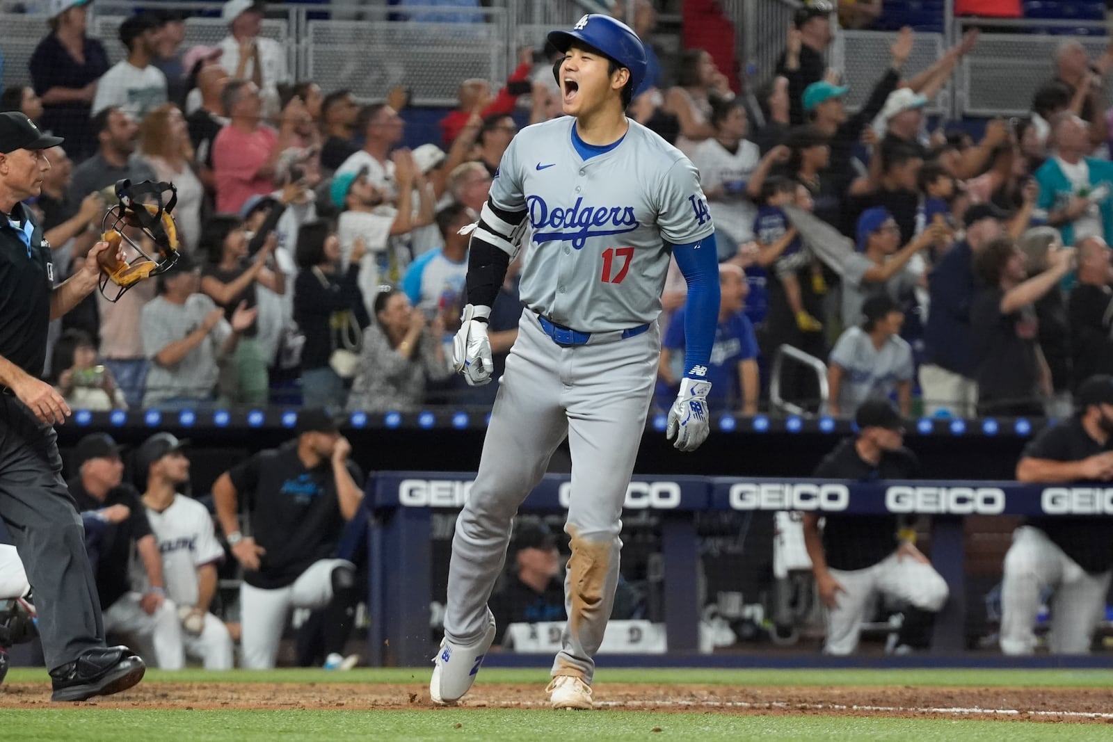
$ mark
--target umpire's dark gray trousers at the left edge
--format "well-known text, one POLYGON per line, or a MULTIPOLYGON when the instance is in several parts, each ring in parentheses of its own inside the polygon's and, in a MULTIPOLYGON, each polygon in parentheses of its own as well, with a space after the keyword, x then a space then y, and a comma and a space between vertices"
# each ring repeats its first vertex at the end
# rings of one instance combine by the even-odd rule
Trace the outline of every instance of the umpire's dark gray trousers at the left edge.
POLYGON ((35 591, 50 670, 105 645, 85 530, 61 471, 53 427, 10 393, 0 394, 0 518, 35 591))

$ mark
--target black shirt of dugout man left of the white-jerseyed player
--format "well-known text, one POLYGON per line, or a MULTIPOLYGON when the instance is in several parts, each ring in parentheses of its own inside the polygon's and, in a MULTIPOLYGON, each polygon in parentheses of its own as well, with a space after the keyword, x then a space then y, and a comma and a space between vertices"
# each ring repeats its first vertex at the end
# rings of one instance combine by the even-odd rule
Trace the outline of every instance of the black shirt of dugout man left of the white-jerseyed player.
POLYGON ((139 498, 139 493, 126 484, 109 489, 104 502, 86 492, 81 486, 81 477, 70 479, 66 486, 69 487, 70 495, 81 512, 98 511, 111 505, 127 505, 131 511, 126 520, 107 524, 100 536, 97 593, 100 595, 100 609, 107 611, 116 601, 131 592, 129 567, 135 545, 144 536, 151 535, 147 509, 139 498))

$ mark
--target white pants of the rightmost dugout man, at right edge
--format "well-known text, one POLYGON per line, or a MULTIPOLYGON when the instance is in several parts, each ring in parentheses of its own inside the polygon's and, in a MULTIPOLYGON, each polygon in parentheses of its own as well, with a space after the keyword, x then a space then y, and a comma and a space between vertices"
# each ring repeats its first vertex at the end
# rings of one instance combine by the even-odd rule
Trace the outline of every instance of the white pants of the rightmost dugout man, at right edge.
POLYGON ((1022 525, 1013 532, 1001 584, 1001 651, 1032 654, 1040 593, 1052 587, 1047 647, 1055 654, 1087 654, 1094 626, 1102 616, 1110 572, 1091 574, 1063 553, 1040 528, 1022 525))

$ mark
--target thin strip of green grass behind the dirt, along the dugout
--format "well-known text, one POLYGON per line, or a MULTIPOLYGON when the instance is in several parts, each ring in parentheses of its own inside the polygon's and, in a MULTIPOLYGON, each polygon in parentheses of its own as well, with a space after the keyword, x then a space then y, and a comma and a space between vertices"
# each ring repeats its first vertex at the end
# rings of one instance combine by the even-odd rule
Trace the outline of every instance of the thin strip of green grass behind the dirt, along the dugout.
MULTIPOLYGON (((266 672, 209 672, 148 670, 145 683, 405 683, 429 682, 430 667, 363 667, 346 673, 326 670, 270 670, 266 672)), ((42 670, 12 667, 8 682, 45 682, 42 670)), ((549 682, 546 670, 489 667, 477 683, 514 685, 549 682)), ((1002 687, 1113 687, 1113 670, 721 670, 721 669, 613 669, 600 670, 597 683, 652 683, 700 685, 929 685, 1002 687)), ((1113 738, 1111 738, 1113 739, 1113 738)))

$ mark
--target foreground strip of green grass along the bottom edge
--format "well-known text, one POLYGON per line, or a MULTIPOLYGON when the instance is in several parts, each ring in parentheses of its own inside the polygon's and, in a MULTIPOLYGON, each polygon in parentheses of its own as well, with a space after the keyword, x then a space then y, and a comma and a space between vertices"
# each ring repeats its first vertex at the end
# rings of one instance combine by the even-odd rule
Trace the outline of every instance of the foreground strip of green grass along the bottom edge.
POLYGON ((37 742, 538 742, 538 740, 916 740, 1009 742, 1110 739, 1104 724, 731 716, 650 712, 556 711, 0 711, 19 739, 37 742), (459 724, 459 728, 456 726, 459 724), (653 733, 660 729, 660 733, 653 733), (18 732, 16 731, 18 730, 18 732))

